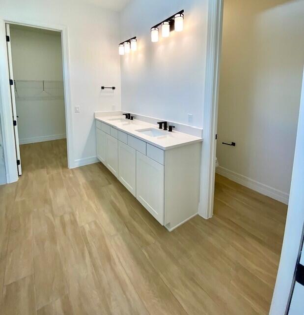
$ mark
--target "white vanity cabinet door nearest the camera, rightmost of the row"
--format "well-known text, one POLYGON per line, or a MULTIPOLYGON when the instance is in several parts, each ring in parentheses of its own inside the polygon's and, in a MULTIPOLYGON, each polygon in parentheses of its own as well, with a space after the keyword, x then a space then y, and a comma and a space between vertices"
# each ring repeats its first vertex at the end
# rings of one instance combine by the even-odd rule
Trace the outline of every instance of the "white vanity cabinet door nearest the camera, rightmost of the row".
POLYGON ((164 225, 164 165, 136 154, 136 197, 164 225))

